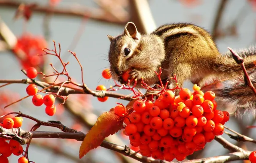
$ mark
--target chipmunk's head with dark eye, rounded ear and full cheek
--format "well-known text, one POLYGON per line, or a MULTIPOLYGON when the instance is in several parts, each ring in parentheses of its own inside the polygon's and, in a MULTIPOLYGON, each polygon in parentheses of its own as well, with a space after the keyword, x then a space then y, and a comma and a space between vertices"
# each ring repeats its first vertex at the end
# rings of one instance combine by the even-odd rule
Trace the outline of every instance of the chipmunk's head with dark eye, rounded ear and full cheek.
POLYGON ((108 55, 110 71, 115 80, 129 70, 160 66, 165 57, 162 40, 154 35, 141 35, 132 22, 125 25, 122 34, 116 37, 108 35, 108 38, 111 42, 108 55))

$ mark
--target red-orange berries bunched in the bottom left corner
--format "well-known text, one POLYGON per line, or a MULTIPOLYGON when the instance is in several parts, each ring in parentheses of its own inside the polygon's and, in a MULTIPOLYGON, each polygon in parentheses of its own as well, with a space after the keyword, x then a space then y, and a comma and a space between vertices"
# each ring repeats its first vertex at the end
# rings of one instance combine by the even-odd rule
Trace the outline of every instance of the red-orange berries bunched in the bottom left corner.
MULTIPOLYGON (((22 126, 23 118, 13 117, 5 118, 3 123, 0 123, 0 126, 6 129, 17 128, 22 126)), ((8 157, 12 154, 20 156, 23 154, 22 145, 15 140, 8 140, 0 138, 0 163, 9 163, 8 157)), ((28 163, 28 160, 25 157, 20 157, 18 163, 28 163)))

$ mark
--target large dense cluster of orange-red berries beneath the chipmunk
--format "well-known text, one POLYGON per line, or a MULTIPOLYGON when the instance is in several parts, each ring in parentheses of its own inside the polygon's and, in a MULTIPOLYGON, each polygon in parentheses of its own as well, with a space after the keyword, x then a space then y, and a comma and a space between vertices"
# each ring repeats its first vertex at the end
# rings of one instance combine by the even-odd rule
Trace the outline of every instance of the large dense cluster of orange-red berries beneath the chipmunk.
POLYGON ((130 115, 122 105, 114 108, 116 115, 124 117, 125 135, 140 154, 182 161, 224 133, 229 113, 216 110, 212 91, 203 93, 196 85, 193 89, 191 93, 183 88, 176 98, 173 91, 165 91, 155 101, 137 100, 130 115))

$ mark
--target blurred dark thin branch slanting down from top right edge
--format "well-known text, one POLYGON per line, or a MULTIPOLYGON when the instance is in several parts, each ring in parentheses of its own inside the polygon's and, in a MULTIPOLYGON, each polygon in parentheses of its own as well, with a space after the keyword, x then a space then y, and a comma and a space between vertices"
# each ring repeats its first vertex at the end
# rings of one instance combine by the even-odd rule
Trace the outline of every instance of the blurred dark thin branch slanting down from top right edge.
POLYGON ((217 33, 219 30, 219 22, 222 18, 223 11, 225 9, 225 6, 227 4, 228 0, 222 0, 219 4, 219 9, 217 11, 217 15, 215 17, 214 23, 213 23, 213 29, 212 29, 212 37, 215 40, 217 37, 217 33))

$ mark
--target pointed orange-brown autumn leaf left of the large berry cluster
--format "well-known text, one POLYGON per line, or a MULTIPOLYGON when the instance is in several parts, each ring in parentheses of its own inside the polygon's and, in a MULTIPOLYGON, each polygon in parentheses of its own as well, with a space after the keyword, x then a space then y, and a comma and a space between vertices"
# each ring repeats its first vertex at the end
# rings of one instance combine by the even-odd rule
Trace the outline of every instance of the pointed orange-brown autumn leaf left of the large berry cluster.
POLYGON ((117 133, 122 129, 123 120, 114 113, 114 109, 104 112, 98 121, 91 127, 91 130, 86 134, 85 139, 79 149, 79 158, 82 158, 91 149, 97 148, 103 140, 117 133))

